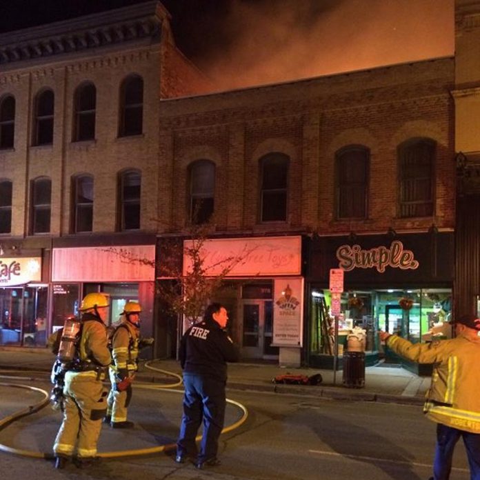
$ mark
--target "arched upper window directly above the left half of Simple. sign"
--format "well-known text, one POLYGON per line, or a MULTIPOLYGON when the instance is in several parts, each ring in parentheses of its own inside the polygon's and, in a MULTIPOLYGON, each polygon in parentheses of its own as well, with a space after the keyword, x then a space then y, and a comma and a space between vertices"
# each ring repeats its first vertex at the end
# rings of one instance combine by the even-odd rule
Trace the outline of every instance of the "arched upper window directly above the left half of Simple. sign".
POLYGON ((335 154, 335 201, 337 219, 367 217, 370 150, 348 146, 335 154))

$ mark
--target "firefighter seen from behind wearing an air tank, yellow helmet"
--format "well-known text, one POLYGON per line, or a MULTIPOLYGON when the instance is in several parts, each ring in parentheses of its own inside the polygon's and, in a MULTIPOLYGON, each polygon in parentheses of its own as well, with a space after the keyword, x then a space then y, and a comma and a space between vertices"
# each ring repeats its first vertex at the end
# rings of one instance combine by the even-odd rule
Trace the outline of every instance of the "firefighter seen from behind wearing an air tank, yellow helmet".
POLYGON ((101 293, 89 293, 81 302, 81 330, 74 359, 66 364, 63 421, 53 446, 55 468, 64 468, 73 459, 75 447, 78 468, 99 459, 97 442, 108 395, 102 380, 112 361, 106 333, 108 304, 101 293))

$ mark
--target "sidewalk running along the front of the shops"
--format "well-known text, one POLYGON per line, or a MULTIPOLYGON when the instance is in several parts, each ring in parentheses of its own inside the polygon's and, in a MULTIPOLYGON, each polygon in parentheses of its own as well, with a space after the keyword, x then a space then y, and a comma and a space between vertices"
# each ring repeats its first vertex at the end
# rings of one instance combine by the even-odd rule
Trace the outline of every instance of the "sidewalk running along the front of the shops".
MULTIPOLYGON (((0 370, 35 370, 50 372, 54 355, 50 350, 28 350, 25 348, 0 347, 0 370)), ((177 361, 154 360, 150 366, 181 374, 177 361)), ((137 381, 172 383, 176 381, 162 372, 139 365, 137 381)), ((279 394, 301 394, 308 397, 330 399, 350 399, 361 401, 383 401, 421 405, 430 385, 430 377, 418 377, 399 367, 374 366, 366 368, 364 388, 346 388, 342 384, 342 371, 334 379, 332 370, 314 368, 281 368, 271 363, 230 363, 228 384, 230 390, 254 390, 277 392, 279 394), (320 373, 323 381, 319 386, 297 386, 272 383, 272 379, 282 374, 304 374, 310 377, 320 373), (334 382, 335 380, 335 382, 334 382)))

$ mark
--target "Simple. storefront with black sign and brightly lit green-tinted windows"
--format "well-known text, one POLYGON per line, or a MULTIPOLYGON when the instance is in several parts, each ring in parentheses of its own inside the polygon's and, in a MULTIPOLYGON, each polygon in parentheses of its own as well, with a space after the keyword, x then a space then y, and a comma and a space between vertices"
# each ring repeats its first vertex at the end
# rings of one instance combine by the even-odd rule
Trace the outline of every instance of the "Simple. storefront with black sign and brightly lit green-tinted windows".
MULTIPOLYGON (((451 335, 454 239, 451 232, 319 237, 312 240, 308 275, 306 361, 332 368, 335 341, 339 366, 354 327, 366 332, 366 362, 401 360, 379 344, 378 330, 416 343, 451 335), (332 336, 331 268, 344 272, 335 306, 338 339, 332 336)), ((405 365, 412 368, 410 365, 405 365)), ((417 369, 417 368, 416 368, 417 369)), ((421 369, 420 369, 421 370, 421 369)))

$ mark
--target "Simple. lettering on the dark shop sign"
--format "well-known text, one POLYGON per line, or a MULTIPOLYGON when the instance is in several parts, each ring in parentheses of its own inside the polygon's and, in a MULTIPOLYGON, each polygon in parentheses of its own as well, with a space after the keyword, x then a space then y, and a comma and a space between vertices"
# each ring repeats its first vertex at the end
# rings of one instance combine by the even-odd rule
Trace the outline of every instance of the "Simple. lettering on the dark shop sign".
POLYGON ((339 267, 346 272, 354 268, 377 268, 380 273, 387 267, 401 270, 415 270, 419 262, 414 259, 412 250, 403 248, 401 241, 392 241, 390 248, 380 246, 370 250, 361 250, 359 245, 342 245, 337 249, 339 267))

